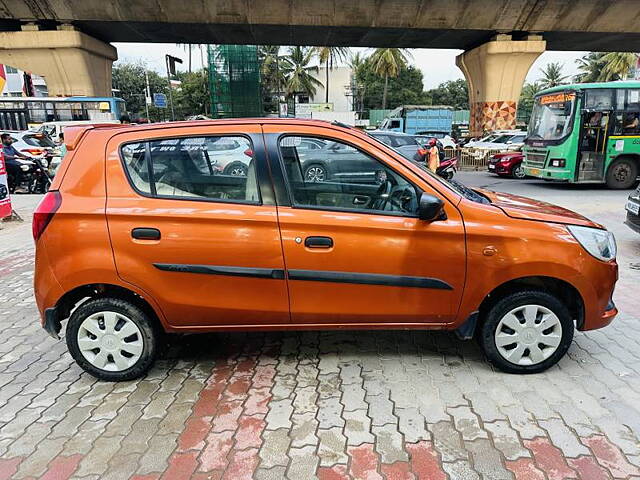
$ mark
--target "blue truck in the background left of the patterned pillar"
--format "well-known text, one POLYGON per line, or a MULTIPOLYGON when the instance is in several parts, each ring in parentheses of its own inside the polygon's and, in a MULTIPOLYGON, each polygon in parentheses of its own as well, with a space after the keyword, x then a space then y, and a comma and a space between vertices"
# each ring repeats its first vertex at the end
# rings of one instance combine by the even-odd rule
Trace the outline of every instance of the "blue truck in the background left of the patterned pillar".
POLYGON ((411 135, 441 133, 449 135, 453 123, 453 107, 445 105, 403 105, 392 110, 380 130, 411 135))

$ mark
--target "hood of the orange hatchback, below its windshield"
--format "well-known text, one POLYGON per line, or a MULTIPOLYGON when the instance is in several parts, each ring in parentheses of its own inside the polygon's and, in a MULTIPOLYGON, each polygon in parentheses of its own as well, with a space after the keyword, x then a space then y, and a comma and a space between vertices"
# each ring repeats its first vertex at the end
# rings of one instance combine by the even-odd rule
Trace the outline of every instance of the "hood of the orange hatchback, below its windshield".
POLYGON ((506 215, 522 220, 563 223, 565 225, 581 225, 584 227, 604 227, 588 218, 558 205, 541 202, 532 198, 520 197, 509 193, 476 189, 487 196, 491 204, 500 208, 506 215))

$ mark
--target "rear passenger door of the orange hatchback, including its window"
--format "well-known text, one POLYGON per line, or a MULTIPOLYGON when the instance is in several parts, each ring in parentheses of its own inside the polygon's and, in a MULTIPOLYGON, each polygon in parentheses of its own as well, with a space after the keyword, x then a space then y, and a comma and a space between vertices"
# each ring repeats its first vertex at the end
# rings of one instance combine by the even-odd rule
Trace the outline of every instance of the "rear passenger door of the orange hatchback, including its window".
POLYGON ((107 145, 107 220, 119 276, 176 328, 289 321, 284 261, 259 126, 120 133, 107 145), (247 151, 224 175, 216 142, 247 151))

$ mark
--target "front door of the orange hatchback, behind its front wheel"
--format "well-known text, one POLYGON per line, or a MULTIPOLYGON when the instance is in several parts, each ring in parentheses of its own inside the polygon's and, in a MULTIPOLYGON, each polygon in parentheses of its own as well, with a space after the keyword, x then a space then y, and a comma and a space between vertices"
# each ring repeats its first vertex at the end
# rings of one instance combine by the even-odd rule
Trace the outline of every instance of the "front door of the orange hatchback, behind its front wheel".
POLYGON ((309 182, 296 145, 318 128, 287 126, 278 135, 282 128, 264 130, 271 167, 279 164, 288 192, 278 216, 292 322, 451 322, 465 279, 464 228, 455 206, 446 202, 446 219, 419 220, 421 191, 437 194, 429 183, 375 141, 330 129, 326 140, 351 152, 331 161, 366 175, 309 182))

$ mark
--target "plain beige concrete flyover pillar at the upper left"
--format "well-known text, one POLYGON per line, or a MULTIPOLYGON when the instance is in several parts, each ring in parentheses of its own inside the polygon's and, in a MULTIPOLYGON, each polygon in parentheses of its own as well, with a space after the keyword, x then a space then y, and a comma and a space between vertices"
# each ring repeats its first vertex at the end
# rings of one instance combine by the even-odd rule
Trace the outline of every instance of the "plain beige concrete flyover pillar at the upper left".
POLYGON ((111 65, 116 49, 71 26, 0 32, 0 63, 45 78, 49 95, 111 96, 111 65))

